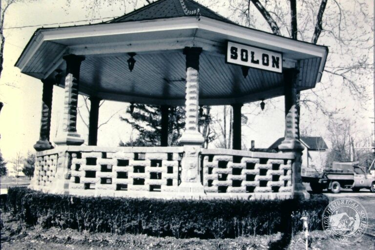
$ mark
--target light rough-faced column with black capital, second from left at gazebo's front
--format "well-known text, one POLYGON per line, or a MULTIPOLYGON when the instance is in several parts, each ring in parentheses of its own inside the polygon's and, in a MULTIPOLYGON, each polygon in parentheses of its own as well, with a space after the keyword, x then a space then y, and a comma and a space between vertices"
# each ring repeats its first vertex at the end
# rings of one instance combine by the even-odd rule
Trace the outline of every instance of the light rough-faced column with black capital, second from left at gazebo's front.
POLYGON ((67 55, 63 59, 66 62, 65 71, 65 98, 63 132, 56 139, 57 145, 82 145, 84 140, 77 133, 77 104, 78 85, 80 79, 81 62, 83 56, 67 55))

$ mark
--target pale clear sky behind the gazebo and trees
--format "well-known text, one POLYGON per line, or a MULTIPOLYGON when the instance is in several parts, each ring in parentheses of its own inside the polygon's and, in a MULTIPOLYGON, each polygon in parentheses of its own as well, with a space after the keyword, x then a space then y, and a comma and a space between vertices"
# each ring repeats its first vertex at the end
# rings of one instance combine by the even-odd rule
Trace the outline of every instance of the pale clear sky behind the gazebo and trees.
MULTIPOLYGON (((6 160, 12 160, 17 152, 26 155, 27 151, 33 151, 33 145, 39 139, 41 106, 42 106, 42 82, 38 79, 21 74, 20 70, 14 67, 15 62, 21 55, 23 48, 29 41, 38 27, 73 25, 88 23, 93 16, 82 6, 81 1, 67 0, 37 0, 30 3, 15 3, 11 5, 5 16, 4 34, 6 36, 4 49, 4 69, 0 79, 0 101, 4 107, 0 113, 0 150, 6 160), (47 25, 53 24, 53 25, 47 25), (32 26, 32 27, 24 27, 32 26), (15 28, 21 27, 21 28, 15 28)), ((204 3, 205 1, 201 0, 204 3)), ((373 1, 369 1, 374 9, 373 1)), ((141 1, 137 5, 139 7, 141 1)), ((223 16, 228 16, 226 8, 222 5, 212 6, 223 16)), ((348 6, 350 8, 350 6, 348 6)), ((103 5, 100 15, 95 16, 102 21, 103 18, 117 17, 129 12, 133 6, 103 5)), ((108 19, 104 19, 106 21, 108 19)), ((97 22, 98 20, 91 20, 97 22)), ((322 82, 329 82, 323 74, 322 82)), ((322 88, 318 83, 316 90, 322 88)), ((366 91, 372 91, 372 84, 368 84, 366 91)), ((335 88, 330 90, 334 98, 328 100, 331 107, 343 108, 342 117, 356 120, 354 132, 363 137, 371 136, 373 124, 370 117, 374 117, 373 98, 363 101, 362 106, 345 96, 350 95, 348 90, 335 88), (363 105, 365 108, 363 108, 363 105)), ((79 99, 79 106, 83 105, 83 99, 79 99)), ((326 100, 327 101, 327 100, 326 100)), ((268 147, 277 138, 284 135, 284 98, 278 97, 273 100, 266 100, 266 109, 260 112, 259 103, 243 107, 243 113, 248 115, 249 124, 243 126, 244 143, 250 147, 250 141, 255 140, 256 147, 268 147)), ((53 142, 56 131, 61 128, 62 122, 63 89, 54 86, 51 138, 53 142)), ((119 115, 125 115, 127 103, 105 101, 101 107, 99 124, 106 121, 111 115, 113 118, 98 131, 99 146, 117 146, 120 140, 127 141, 134 136, 130 125, 120 121, 119 115)), ((83 110, 83 118, 87 120, 87 112, 83 110)), ((215 107, 214 112, 220 114, 222 107, 215 107)), ((321 114, 301 110, 301 124, 312 136, 323 136, 328 144, 327 134, 328 120, 321 114), (305 112, 306 111, 306 112, 305 112)), ((78 133, 87 142, 87 128, 82 119, 78 118, 78 133)))

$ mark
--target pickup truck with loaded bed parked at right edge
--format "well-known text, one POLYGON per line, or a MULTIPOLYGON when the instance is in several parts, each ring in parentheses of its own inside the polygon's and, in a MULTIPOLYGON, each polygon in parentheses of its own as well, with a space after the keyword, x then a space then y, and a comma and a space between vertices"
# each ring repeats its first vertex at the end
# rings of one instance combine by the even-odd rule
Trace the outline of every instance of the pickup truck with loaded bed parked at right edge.
POLYGON ((324 169, 322 173, 313 176, 302 176, 302 181, 310 183, 312 191, 316 193, 322 192, 323 189, 339 193, 342 188, 352 188, 354 192, 368 188, 375 192, 374 161, 369 168, 360 167, 353 162, 333 162, 332 168, 324 169))

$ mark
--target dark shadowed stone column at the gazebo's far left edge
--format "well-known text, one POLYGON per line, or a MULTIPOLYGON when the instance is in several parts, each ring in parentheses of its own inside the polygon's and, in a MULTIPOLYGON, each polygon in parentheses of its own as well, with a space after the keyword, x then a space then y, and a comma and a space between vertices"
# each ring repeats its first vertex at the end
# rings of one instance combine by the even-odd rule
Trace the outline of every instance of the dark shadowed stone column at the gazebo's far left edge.
POLYGON ((34 145, 35 150, 42 151, 53 148, 49 142, 49 132, 51 129, 52 92, 53 84, 42 80, 42 119, 39 141, 34 145))

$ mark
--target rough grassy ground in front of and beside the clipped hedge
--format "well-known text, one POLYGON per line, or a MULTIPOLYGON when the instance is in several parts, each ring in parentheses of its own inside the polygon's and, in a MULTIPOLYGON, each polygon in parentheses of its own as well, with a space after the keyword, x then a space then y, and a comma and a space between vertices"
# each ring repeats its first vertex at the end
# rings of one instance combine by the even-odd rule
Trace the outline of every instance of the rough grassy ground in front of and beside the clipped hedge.
MULTIPOLYGON (((1 188, 14 186, 15 178, 1 177, 1 188)), ((19 184, 27 185, 27 178, 19 179, 19 184)), ((362 189, 358 193, 344 191, 340 194, 324 192, 330 200, 351 197, 359 201, 367 210, 369 227, 366 234, 354 245, 340 246, 331 241, 323 231, 310 232, 312 250, 371 250, 375 247, 375 194, 362 189)), ((265 250, 283 249, 286 242, 287 250, 304 249, 304 234, 298 233, 292 239, 283 241, 280 233, 273 235, 256 235, 235 239, 202 240, 176 239, 173 237, 152 237, 143 234, 113 235, 110 233, 92 234, 87 231, 78 232, 72 229, 42 229, 40 225, 27 228, 20 221, 15 221, 7 213, 1 213, 4 227, 1 229, 2 250, 95 250, 95 249, 134 249, 134 250, 265 250)))

